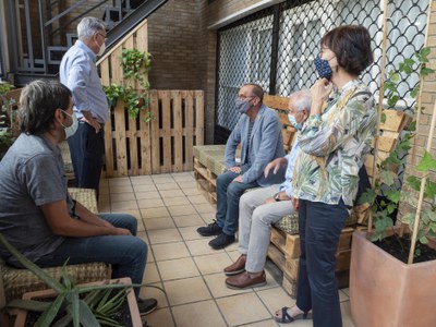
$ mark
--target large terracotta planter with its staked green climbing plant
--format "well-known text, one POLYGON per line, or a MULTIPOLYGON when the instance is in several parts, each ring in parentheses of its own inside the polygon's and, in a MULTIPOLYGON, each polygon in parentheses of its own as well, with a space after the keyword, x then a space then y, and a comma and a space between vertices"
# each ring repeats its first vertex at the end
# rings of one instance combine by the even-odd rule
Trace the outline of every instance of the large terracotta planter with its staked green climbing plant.
MULTIPOLYGON (((412 59, 400 63, 397 71, 389 72, 389 80, 384 84, 388 90, 389 106, 395 106, 399 99, 397 83, 401 75, 408 76, 416 69, 420 76, 433 73, 433 70, 426 68, 428 53, 429 49, 423 48, 412 59)), ((420 86, 415 86, 411 96, 416 97, 419 89, 420 86)), ((435 249, 432 238, 436 237, 436 207, 433 205, 436 183, 427 180, 429 170, 436 168, 436 160, 428 153, 435 122, 434 114, 427 152, 415 167, 421 175, 409 177, 400 193, 396 185, 398 175, 389 170, 392 165, 405 164, 405 157, 401 157, 400 153, 411 148, 413 134, 409 134, 398 143, 391 156, 377 165, 375 187, 366 193, 365 199, 372 207, 375 230, 372 230, 370 219, 368 232, 358 231, 353 234, 350 268, 351 313, 358 327, 436 326, 436 256, 432 256, 435 251, 427 247, 428 244, 435 249), (419 201, 410 194, 412 190, 420 192, 419 201), (379 191, 384 191, 388 201, 377 201, 379 191), (429 204, 422 208, 425 198, 429 204), (397 228, 393 228, 389 215, 400 199, 401 203, 410 204, 412 211, 403 213, 401 226, 397 223, 397 228), (404 228, 404 223, 409 228, 404 228), (387 239, 392 242, 392 250, 405 253, 404 262, 387 252, 384 245, 387 239), (417 247, 416 241, 420 241, 417 247), (429 253, 427 262, 422 262, 424 252, 429 253)), ((413 133, 414 124, 411 125, 410 132, 413 133)))

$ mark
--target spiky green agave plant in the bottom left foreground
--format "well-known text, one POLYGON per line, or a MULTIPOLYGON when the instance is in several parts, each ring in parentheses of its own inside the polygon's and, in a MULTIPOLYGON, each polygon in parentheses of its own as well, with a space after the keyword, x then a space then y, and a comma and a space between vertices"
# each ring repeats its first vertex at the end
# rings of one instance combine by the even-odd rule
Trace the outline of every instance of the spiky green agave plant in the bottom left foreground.
POLYGON ((58 281, 37 265, 22 255, 0 233, 0 242, 5 249, 28 270, 46 282, 58 294, 51 302, 35 300, 12 300, 7 307, 24 308, 40 312, 40 316, 34 326, 122 326, 112 316, 123 304, 125 296, 132 291, 132 287, 141 284, 109 283, 101 286, 77 287, 73 278, 66 271, 64 265, 62 278, 58 281), (119 292, 114 292, 120 289, 119 292), (59 318, 56 323, 55 318, 59 318))

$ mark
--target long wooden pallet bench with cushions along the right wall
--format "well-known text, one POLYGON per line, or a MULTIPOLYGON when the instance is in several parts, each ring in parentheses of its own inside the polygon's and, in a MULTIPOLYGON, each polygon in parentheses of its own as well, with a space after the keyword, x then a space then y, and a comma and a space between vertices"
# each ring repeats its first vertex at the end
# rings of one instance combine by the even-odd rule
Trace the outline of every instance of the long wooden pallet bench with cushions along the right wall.
MULTIPOLYGON (((295 130, 289 125, 288 116, 284 110, 288 108, 289 99, 278 96, 265 96, 264 102, 272 109, 278 110, 280 120, 283 123, 283 147, 287 152, 292 147, 295 137, 295 130)), ((380 125, 378 136, 377 162, 380 162, 395 149, 396 142, 410 122, 410 117, 401 111, 385 110, 386 121, 380 125)), ((204 145, 194 147, 194 174, 197 182, 197 189, 203 192, 206 198, 216 203, 216 179, 217 175, 226 170, 225 145, 204 145)), ((370 177, 373 174, 374 156, 367 156, 365 167, 370 177)), ((356 229, 365 229, 365 226, 359 225, 362 217, 353 213, 346 221, 346 228, 340 235, 337 250, 337 278, 340 288, 348 287, 351 241, 352 233, 356 229)), ((271 228, 270 245, 268 249, 268 258, 283 272, 283 289, 292 296, 296 296, 298 266, 300 256, 300 239, 298 228, 298 215, 289 215, 280 219, 271 228)))

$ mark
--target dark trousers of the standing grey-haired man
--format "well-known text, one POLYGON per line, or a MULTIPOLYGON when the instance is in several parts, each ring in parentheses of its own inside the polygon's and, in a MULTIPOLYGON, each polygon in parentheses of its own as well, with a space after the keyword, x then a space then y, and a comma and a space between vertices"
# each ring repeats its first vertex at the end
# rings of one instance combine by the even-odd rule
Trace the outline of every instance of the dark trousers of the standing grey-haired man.
POLYGON ((105 160, 105 133, 98 133, 85 122, 80 122, 77 132, 68 138, 75 174, 75 186, 97 191, 105 160))

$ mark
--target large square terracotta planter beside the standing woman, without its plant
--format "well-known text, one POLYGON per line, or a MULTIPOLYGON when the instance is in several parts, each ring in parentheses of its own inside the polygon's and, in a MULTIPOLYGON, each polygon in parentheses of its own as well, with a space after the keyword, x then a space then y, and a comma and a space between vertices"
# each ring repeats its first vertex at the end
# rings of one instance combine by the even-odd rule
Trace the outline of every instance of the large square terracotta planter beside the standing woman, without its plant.
POLYGON ((355 231, 350 304, 356 327, 436 326, 436 261, 407 265, 355 231))

